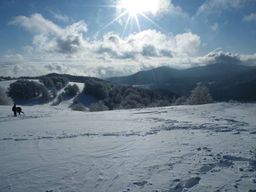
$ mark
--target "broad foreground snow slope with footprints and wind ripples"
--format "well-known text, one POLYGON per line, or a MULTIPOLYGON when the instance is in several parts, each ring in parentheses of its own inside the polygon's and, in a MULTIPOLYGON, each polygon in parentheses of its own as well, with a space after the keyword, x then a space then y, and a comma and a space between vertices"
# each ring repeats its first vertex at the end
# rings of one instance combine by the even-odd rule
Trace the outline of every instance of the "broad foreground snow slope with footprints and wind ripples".
POLYGON ((0 191, 256 189, 256 105, 75 112, 0 106, 0 191))

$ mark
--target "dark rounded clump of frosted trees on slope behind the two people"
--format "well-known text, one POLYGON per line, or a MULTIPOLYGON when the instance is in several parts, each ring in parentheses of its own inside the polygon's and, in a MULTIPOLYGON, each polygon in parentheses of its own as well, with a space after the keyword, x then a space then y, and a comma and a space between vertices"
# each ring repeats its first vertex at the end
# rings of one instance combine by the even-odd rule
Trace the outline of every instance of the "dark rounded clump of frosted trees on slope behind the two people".
POLYGON ((17 80, 10 84, 8 88, 8 95, 16 99, 32 99, 39 96, 47 99, 49 96, 49 90, 45 85, 35 81, 17 80))

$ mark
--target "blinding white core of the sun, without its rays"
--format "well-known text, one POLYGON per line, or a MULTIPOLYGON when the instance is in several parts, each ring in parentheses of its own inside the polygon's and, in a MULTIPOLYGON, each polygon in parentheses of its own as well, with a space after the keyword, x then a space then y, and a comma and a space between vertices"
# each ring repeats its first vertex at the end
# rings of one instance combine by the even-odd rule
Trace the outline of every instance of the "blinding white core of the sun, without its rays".
POLYGON ((158 10, 158 0, 121 0, 120 5, 131 15, 140 12, 156 12, 158 10))

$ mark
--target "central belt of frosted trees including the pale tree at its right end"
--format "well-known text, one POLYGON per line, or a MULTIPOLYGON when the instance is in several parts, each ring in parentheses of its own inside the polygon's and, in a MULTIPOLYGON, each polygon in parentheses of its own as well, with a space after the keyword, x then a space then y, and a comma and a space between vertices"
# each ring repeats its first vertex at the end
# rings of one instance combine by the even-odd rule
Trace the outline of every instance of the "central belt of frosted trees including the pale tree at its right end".
POLYGON ((185 96, 179 97, 167 90, 147 90, 89 79, 84 83, 84 93, 100 100, 98 103, 91 104, 89 107, 91 111, 202 105, 213 102, 209 89, 204 85, 198 85, 186 99, 185 96))

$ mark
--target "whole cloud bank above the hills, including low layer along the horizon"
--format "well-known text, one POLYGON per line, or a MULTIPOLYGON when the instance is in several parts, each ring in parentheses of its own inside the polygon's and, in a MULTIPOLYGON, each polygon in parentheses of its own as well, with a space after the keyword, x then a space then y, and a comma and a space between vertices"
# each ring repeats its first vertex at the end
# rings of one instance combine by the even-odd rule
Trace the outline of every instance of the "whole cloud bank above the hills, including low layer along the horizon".
POLYGON ((196 57, 201 38, 190 31, 173 36, 149 29, 126 37, 108 32, 102 38, 84 38, 88 28, 83 20, 60 27, 38 13, 15 17, 9 25, 30 31, 33 41, 23 47, 23 54, 0 59, 0 76, 54 72, 107 78, 164 65, 179 69, 216 62, 256 65, 256 53, 240 55, 216 49, 196 57))

